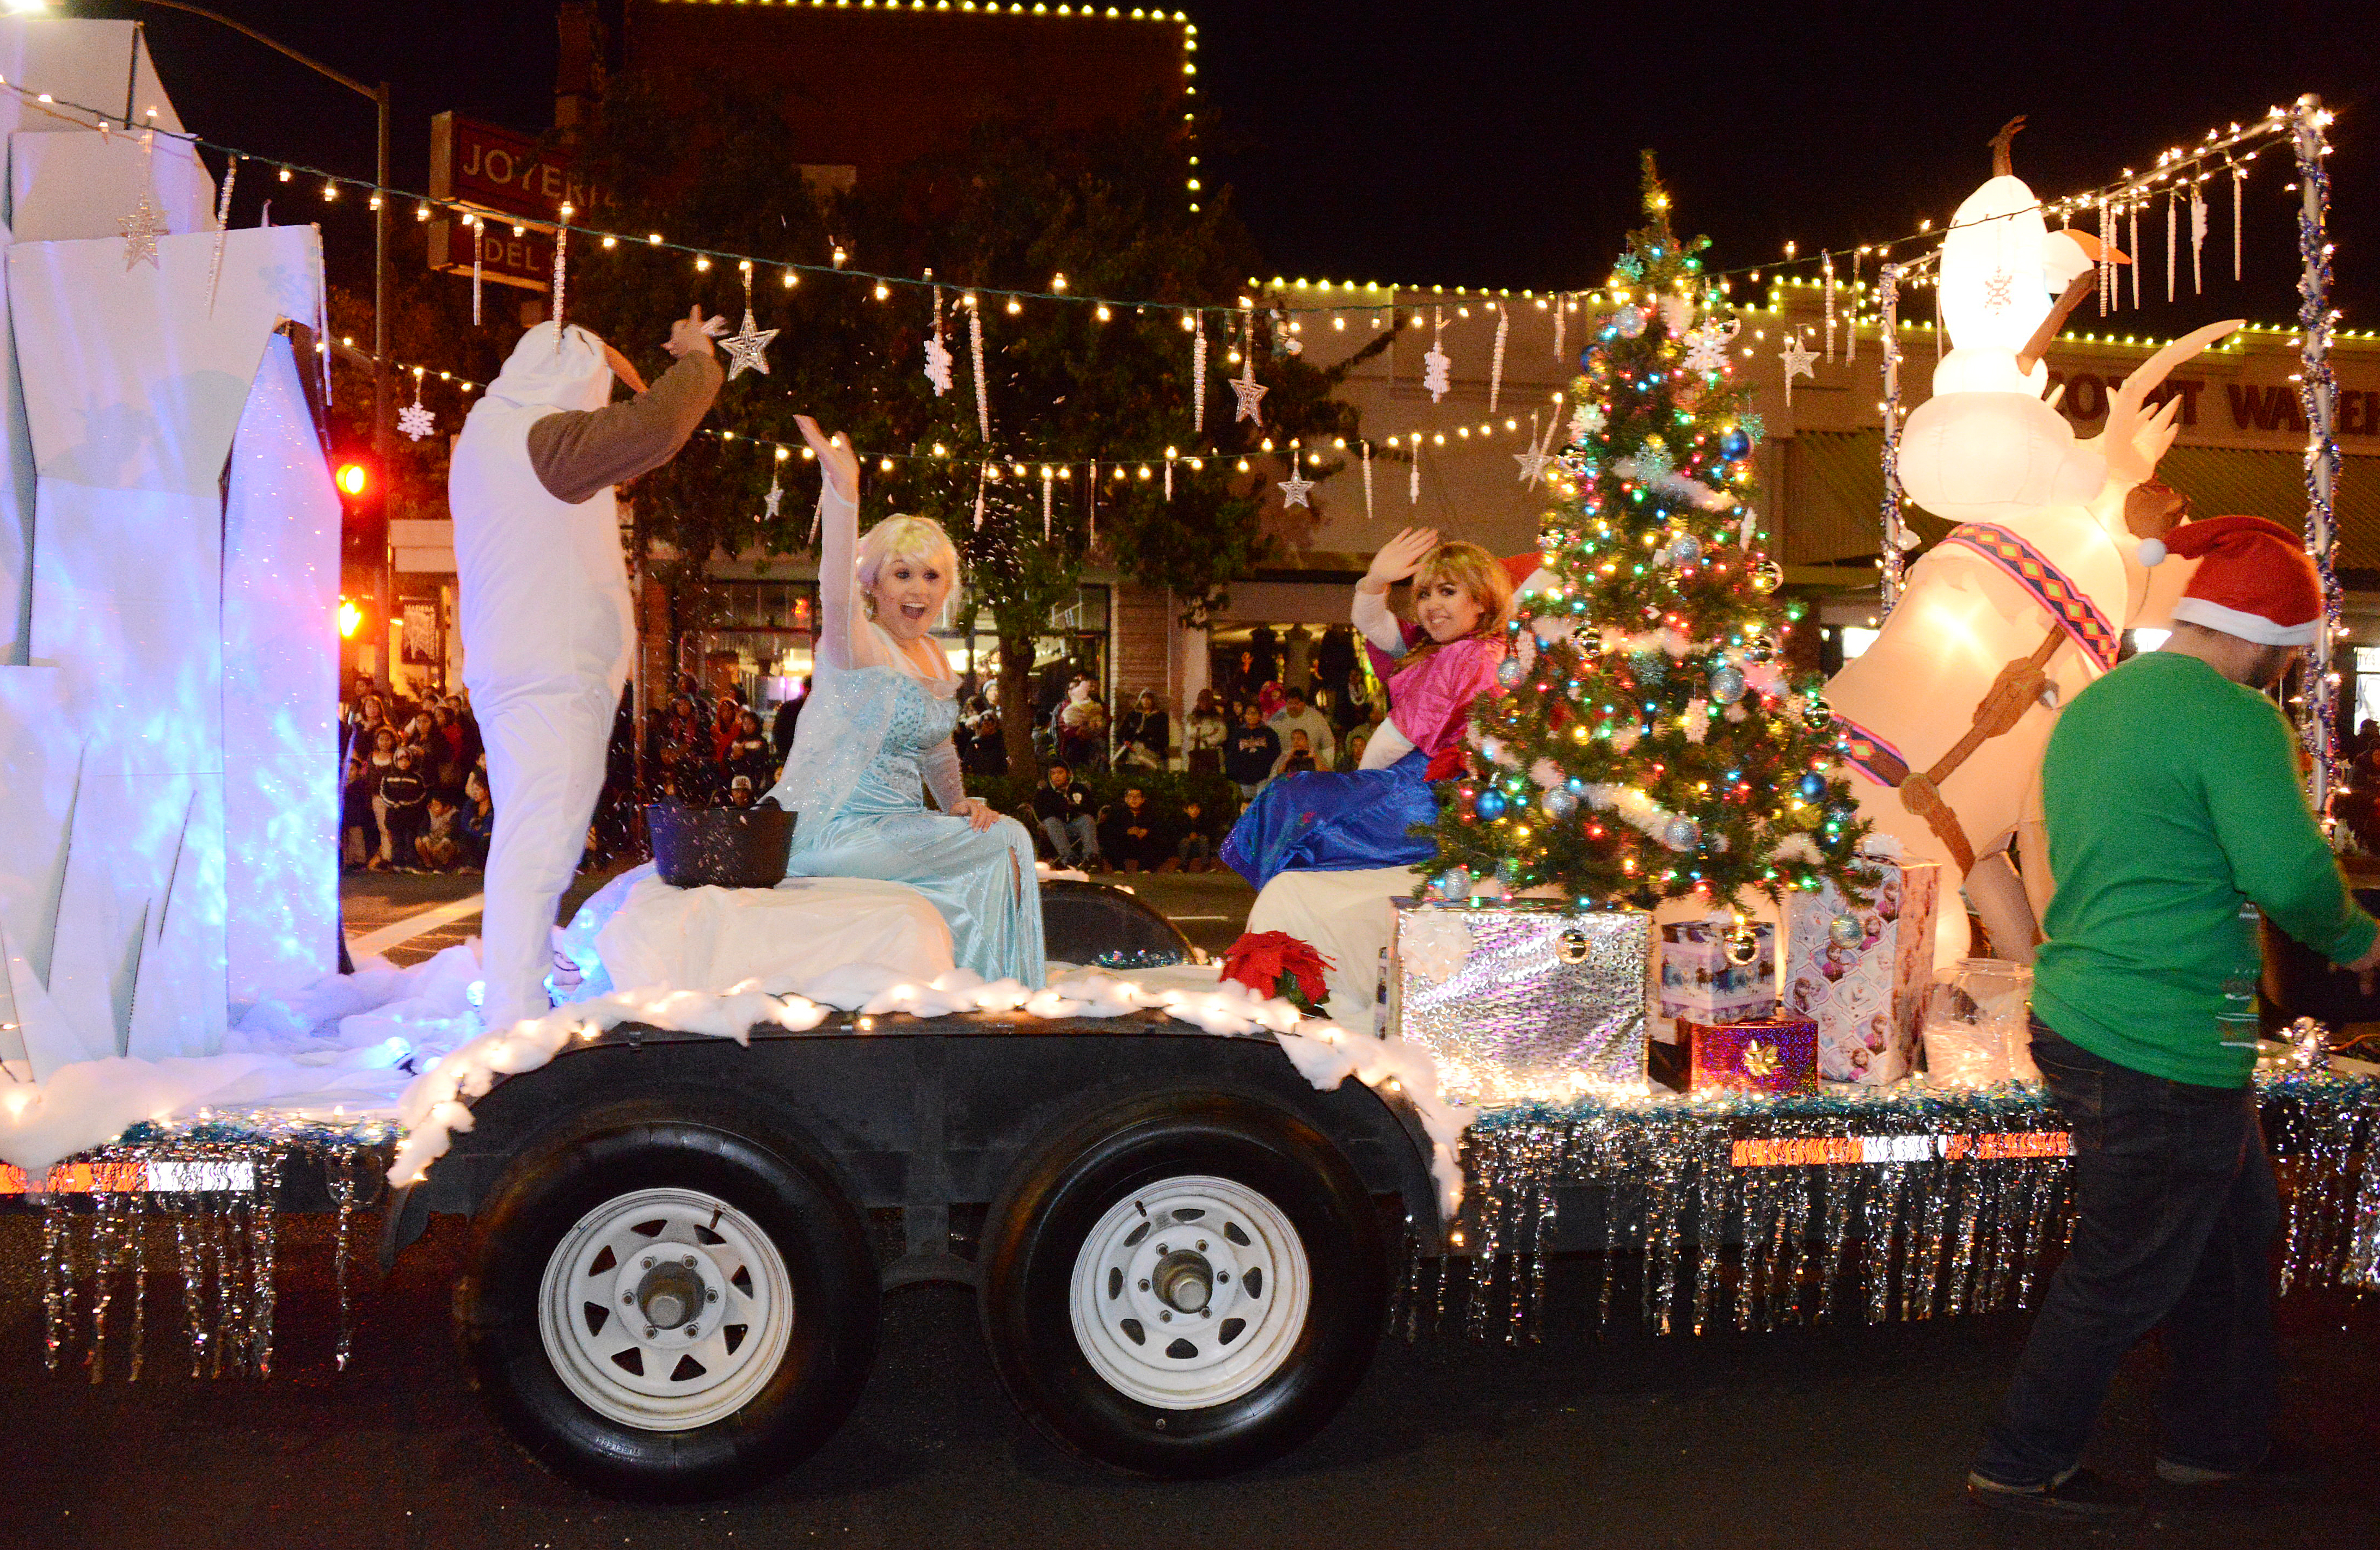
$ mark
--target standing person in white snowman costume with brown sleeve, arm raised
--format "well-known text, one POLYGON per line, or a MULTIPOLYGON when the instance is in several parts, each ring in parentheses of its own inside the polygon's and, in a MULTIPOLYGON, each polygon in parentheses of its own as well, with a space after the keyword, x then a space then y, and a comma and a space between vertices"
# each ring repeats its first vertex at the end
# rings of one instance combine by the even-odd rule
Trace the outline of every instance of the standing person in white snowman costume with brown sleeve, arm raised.
POLYGON ((488 745, 495 838, 481 917, 483 1026, 550 1010, 555 905, 585 850, 635 610, 612 486, 676 457, 719 393, 695 307, 652 388, 581 326, 538 324, 455 438, 447 500, 462 681, 488 745), (612 376, 635 398, 612 405, 612 376))

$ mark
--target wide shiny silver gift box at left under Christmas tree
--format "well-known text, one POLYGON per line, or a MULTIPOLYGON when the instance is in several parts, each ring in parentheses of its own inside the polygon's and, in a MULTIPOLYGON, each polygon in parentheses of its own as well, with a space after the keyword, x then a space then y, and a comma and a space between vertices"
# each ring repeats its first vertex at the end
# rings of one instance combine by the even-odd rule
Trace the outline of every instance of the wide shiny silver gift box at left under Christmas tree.
POLYGON ((1645 1088, 1652 914, 1397 900, 1388 1026, 1464 1102, 1645 1088))

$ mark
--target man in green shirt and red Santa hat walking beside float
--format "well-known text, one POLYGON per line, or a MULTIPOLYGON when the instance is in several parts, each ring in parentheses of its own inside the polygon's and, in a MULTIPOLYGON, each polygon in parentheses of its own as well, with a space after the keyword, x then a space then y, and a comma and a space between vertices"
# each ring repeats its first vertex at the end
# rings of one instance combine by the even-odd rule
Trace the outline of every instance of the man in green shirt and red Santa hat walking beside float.
POLYGON ((2261 690, 2316 631, 2297 536, 2216 517, 2142 545, 2202 564, 2163 650, 2059 717, 2042 760, 2056 893, 2033 979, 2033 1060, 2073 1136, 2075 1231, 1968 1474, 2006 1512, 2113 1519, 2137 1498, 2080 1469, 2123 1355, 2163 1329, 2156 1474, 2268 1467, 2280 1193, 2256 1124, 2256 914, 2370 988, 2380 926, 2349 898, 2261 690))

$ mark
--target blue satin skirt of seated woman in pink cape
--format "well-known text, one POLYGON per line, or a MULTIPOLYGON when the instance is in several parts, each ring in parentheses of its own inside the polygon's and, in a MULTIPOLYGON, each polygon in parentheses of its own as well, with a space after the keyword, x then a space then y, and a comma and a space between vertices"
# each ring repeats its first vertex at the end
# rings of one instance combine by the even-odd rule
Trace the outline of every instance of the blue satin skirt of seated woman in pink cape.
POLYGON ((1416 748, 1388 769, 1280 776, 1257 793, 1223 838, 1223 862, 1259 890, 1283 871, 1418 867, 1438 840, 1407 833, 1438 821, 1416 748))

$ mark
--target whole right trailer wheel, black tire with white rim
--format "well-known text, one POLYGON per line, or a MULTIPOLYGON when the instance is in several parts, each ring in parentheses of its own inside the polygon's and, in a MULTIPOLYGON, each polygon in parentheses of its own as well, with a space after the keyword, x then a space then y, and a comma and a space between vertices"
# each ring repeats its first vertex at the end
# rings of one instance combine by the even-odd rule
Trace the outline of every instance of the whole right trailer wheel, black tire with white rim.
POLYGON ((1388 1252, 1302 1117, 1154 1093, 1045 1145, 985 1224, 983 1333, 1059 1448, 1200 1479, 1314 1436, 1371 1364, 1388 1252))

